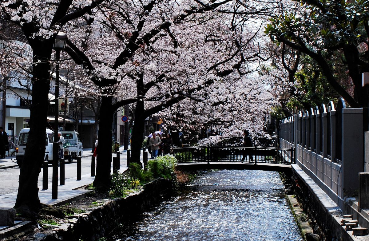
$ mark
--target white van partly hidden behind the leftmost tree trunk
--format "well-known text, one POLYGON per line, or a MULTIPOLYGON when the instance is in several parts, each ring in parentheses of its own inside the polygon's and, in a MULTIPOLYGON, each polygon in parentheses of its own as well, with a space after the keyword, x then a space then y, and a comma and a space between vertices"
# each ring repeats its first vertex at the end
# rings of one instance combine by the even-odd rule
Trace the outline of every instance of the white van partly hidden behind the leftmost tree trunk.
MULTIPOLYGON (((18 146, 17 146, 17 151, 15 153, 15 159, 17 159, 18 166, 21 166, 23 162, 24 151, 25 151, 25 146, 27 145, 29 132, 30 132, 30 128, 23 128, 19 132, 18 146)), ((54 131, 50 129, 46 129, 45 141, 46 141, 45 160, 52 161, 52 152, 53 152, 52 147, 53 147, 53 142, 54 142, 54 131)))

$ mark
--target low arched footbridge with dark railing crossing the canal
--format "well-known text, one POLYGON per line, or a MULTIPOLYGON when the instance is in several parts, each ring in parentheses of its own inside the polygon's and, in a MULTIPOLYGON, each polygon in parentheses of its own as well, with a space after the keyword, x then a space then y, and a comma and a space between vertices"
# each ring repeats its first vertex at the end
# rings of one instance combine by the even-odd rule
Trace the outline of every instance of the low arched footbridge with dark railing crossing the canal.
POLYGON ((196 146, 173 148, 181 169, 230 169, 285 172, 296 163, 293 149, 274 147, 196 146), (246 154, 244 162, 241 162, 246 154), (250 162, 252 156, 253 161, 250 162))

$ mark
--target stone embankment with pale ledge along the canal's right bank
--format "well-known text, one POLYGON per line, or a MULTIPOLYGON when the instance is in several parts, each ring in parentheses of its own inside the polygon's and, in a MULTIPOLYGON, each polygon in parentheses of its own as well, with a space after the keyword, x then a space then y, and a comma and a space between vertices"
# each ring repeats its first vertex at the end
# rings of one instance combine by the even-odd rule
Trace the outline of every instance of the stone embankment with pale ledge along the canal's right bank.
POLYGON ((358 227, 356 217, 339 209, 297 165, 287 180, 287 198, 304 240, 369 241, 367 229, 358 227))

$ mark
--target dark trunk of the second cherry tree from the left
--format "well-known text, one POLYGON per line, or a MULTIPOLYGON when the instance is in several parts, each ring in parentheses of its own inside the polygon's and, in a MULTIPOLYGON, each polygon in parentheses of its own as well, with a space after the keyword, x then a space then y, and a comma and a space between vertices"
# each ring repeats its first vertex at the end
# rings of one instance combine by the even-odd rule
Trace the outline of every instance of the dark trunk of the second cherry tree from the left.
POLYGON ((97 145, 96 176, 93 182, 98 190, 108 190, 110 187, 111 169, 111 123, 113 123, 112 96, 101 97, 99 120, 99 145, 97 145))

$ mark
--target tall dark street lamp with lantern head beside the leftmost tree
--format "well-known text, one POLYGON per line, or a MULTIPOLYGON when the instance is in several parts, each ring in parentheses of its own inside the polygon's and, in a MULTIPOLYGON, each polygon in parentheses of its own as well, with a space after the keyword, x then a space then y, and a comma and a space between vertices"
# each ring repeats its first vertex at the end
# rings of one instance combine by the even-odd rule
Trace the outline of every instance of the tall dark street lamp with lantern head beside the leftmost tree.
POLYGON ((59 61, 60 51, 65 47, 65 43, 68 37, 64 32, 58 32, 55 37, 53 49, 56 51, 56 66, 55 66, 55 123, 54 123, 54 145, 53 145, 53 158, 52 158, 52 199, 58 199, 58 151, 59 143, 56 142, 58 137, 58 119, 59 119, 59 61))

